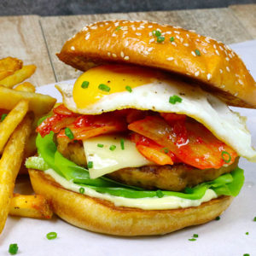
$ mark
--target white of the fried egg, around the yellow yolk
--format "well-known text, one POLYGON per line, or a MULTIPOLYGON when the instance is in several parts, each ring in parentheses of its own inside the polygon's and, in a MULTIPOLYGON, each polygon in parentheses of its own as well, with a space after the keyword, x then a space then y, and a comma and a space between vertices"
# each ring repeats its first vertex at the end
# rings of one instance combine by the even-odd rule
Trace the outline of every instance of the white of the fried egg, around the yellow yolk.
POLYGON ((251 146, 246 118, 233 112, 217 97, 200 87, 176 80, 155 80, 132 89, 103 96, 87 108, 77 108, 73 101, 73 84, 58 84, 63 103, 74 113, 100 114, 117 109, 136 108, 165 113, 183 113, 205 125, 218 139, 236 150, 240 156, 256 162, 256 151, 251 146), (169 97, 177 95, 182 102, 171 104, 169 97))

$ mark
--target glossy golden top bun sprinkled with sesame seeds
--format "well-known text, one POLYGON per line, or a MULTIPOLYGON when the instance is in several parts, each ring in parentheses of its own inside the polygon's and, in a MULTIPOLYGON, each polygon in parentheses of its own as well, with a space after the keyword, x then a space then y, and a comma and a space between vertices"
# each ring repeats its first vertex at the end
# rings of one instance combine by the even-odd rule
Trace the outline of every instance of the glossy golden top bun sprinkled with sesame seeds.
POLYGON ((160 68, 195 80, 231 106, 256 108, 256 84, 240 57, 227 45, 180 27, 96 22, 69 39, 57 56, 81 71, 111 62, 160 68))

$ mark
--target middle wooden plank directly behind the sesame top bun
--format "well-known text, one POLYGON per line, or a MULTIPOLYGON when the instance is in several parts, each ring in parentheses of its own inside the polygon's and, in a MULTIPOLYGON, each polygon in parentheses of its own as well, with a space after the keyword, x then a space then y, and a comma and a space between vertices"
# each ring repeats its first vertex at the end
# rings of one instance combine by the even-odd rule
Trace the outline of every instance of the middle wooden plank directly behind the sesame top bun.
POLYGON ((97 20, 113 19, 152 20, 168 23, 173 26, 183 26, 187 29, 194 29, 203 35, 224 41, 225 44, 253 39, 230 9, 194 9, 129 14, 42 17, 40 21, 48 45, 49 57, 58 81, 75 79, 79 76, 79 73, 75 72, 72 67, 67 67, 55 56, 55 53, 61 50, 61 46, 66 40, 76 32, 79 32, 86 24, 97 20))

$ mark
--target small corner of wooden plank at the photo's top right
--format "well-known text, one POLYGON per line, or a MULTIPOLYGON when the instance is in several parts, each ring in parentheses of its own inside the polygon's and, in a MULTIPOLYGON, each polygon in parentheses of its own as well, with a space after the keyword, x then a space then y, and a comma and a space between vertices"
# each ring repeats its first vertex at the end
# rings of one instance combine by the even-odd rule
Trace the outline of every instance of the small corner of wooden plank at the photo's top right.
POLYGON ((256 4, 231 5, 230 9, 252 37, 256 38, 256 4))

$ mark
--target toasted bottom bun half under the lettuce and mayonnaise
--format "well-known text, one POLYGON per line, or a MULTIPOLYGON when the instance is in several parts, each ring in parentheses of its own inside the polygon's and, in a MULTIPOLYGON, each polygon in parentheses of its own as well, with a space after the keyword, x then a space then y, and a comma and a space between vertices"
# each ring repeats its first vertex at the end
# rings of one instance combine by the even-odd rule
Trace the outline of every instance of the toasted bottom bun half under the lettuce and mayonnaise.
POLYGON ((64 189, 49 175, 29 170, 36 194, 44 195, 53 211, 79 228, 115 236, 163 235, 197 224, 204 224, 230 206, 232 196, 220 196, 199 207, 175 210, 142 210, 115 207, 113 203, 64 189))

